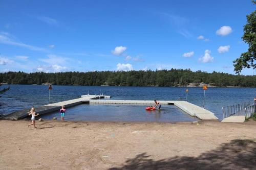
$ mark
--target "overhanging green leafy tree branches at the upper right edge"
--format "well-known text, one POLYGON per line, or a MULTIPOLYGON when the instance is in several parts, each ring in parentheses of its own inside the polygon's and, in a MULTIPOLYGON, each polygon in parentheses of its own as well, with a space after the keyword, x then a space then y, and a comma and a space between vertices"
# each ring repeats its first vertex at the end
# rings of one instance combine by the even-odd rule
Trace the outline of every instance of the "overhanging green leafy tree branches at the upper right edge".
MULTIPOLYGON (((253 0, 252 3, 255 5, 256 1, 253 0)), ((256 10, 246 17, 247 23, 244 26, 242 39, 248 43, 249 48, 247 52, 241 54, 240 58, 233 61, 236 73, 241 72, 243 68, 256 68, 256 10)))

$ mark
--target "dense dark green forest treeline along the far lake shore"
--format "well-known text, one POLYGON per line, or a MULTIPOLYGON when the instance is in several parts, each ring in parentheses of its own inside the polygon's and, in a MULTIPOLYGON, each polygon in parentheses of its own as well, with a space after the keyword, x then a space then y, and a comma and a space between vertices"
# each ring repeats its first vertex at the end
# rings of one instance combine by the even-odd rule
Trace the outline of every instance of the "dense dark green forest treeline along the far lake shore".
POLYGON ((190 69, 93 71, 93 72, 5 72, 0 82, 8 84, 86 85, 86 86, 186 86, 189 83, 208 83, 225 87, 255 87, 256 76, 231 75, 223 72, 208 73, 190 69))

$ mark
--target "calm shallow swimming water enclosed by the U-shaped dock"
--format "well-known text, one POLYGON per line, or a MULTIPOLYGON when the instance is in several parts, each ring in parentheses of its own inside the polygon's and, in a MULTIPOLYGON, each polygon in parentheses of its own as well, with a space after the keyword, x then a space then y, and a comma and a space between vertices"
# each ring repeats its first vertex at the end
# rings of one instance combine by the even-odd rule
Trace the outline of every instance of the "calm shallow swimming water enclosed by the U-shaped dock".
MULTIPOLYGON (((66 120, 125 121, 125 122, 192 122, 197 118, 187 115, 176 106, 166 106, 161 111, 146 111, 146 105, 82 104, 68 108, 66 120)), ((58 111, 42 115, 43 119, 60 119, 58 111)))

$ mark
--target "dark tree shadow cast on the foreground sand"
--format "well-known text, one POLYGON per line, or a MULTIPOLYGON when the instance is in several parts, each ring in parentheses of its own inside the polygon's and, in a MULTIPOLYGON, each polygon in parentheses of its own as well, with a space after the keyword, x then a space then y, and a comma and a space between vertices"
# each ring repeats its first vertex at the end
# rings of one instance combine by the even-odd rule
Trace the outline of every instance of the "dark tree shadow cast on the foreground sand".
POLYGON ((150 155, 142 153, 128 159, 119 169, 256 169, 256 142, 253 140, 232 140, 223 143, 215 150, 203 153, 198 157, 172 157, 161 160, 150 159, 150 155))

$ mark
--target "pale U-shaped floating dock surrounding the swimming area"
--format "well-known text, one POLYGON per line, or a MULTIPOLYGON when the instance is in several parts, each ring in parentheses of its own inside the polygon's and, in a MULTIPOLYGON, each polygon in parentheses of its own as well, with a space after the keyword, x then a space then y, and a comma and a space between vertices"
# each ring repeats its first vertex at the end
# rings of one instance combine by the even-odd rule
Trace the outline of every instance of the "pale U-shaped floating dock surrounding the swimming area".
MULTIPOLYGON (((45 114, 53 111, 57 111, 61 106, 65 105, 66 108, 76 106, 82 103, 90 104, 130 104, 130 105, 154 105, 154 101, 142 101, 142 100, 100 100, 104 98, 111 98, 108 95, 81 95, 81 98, 73 99, 69 101, 63 101, 58 103, 52 103, 41 107, 36 107, 35 110, 39 114, 45 114)), ((175 105, 190 116, 196 116, 202 120, 218 120, 218 117, 214 113, 201 108, 197 105, 191 104, 186 101, 159 101, 162 105, 175 105)), ((2 117, 3 119, 18 120, 28 116, 30 109, 16 111, 9 115, 2 117)))

